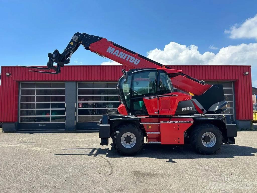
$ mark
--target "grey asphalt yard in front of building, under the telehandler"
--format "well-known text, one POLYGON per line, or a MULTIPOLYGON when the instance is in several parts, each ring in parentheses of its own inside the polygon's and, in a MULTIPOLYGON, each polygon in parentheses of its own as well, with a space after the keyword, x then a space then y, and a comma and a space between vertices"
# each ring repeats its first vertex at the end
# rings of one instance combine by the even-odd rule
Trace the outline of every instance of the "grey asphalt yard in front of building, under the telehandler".
POLYGON ((211 156, 145 144, 125 157, 98 133, 0 133, 0 192, 257 192, 257 131, 237 134, 211 156))

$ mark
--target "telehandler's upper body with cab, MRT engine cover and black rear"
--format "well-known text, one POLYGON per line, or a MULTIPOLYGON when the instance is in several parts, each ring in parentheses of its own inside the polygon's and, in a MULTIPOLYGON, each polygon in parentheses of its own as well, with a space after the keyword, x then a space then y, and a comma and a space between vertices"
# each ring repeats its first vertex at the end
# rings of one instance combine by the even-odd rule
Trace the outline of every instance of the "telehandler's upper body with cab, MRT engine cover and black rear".
POLYGON ((179 75, 179 70, 152 68, 122 72, 124 75, 118 81, 121 100, 118 112, 122 115, 172 116, 226 111, 222 85, 212 85, 203 94, 191 96, 173 90, 171 78, 179 75))

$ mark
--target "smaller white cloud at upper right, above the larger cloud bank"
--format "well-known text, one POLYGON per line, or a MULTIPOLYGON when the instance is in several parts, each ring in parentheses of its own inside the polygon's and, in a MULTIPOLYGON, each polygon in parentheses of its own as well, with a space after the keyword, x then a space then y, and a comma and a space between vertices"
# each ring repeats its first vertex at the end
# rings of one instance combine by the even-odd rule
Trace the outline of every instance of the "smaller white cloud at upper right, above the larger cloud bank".
POLYGON ((225 33, 230 34, 230 38, 255 38, 257 41, 257 14, 246 19, 241 25, 235 24, 230 30, 225 30, 225 33))

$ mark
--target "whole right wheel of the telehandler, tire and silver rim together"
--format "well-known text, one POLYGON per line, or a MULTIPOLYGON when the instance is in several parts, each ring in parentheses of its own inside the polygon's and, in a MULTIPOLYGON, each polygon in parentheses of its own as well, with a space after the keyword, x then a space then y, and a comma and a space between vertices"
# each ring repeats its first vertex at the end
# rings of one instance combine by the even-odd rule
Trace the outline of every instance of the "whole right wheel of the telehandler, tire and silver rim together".
POLYGON ((204 155, 212 155, 221 149, 222 133, 213 124, 201 124, 194 127, 190 143, 194 150, 204 155))

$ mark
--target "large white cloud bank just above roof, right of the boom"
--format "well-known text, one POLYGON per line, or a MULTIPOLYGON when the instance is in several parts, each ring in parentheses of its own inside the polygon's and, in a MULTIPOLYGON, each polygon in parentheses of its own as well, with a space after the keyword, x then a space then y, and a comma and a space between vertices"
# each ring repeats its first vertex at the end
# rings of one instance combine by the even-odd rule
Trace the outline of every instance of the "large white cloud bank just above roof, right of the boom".
POLYGON ((164 65, 252 65, 257 66, 257 43, 221 48, 217 54, 201 54, 195 45, 170 42, 163 50, 155 48, 147 57, 164 65))

